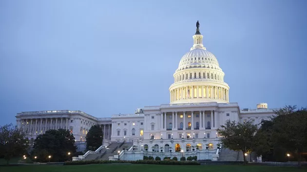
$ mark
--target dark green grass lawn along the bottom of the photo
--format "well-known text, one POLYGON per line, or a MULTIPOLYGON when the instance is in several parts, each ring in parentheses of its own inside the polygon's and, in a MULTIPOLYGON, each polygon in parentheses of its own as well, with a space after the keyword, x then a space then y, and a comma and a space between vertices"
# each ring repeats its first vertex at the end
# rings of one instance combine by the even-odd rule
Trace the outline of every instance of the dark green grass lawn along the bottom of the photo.
POLYGON ((90 164, 90 165, 22 165, 0 166, 0 172, 306 172, 306 168, 269 167, 252 165, 147 165, 147 164, 90 164))

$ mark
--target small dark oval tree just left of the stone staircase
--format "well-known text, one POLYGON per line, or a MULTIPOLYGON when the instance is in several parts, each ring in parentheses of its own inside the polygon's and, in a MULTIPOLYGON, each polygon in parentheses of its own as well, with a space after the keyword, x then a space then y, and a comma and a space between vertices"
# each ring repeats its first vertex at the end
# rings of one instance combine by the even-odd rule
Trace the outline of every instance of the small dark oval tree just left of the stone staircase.
POLYGON ((93 125, 86 135, 86 149, 95 151, 102 145, 102 128, 100 125, 93 125))

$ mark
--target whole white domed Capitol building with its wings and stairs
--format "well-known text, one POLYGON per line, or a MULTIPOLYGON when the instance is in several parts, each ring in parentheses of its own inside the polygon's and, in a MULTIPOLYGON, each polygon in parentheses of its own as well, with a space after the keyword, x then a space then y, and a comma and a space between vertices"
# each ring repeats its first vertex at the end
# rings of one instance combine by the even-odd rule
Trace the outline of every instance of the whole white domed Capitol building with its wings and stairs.
MULTIPOLYGON (((110 118, 75 110, 21 112, 16 116, 17 126, 31 140, 50 129, 70 130, 78 149, 84 150, 87 132, 91 126, 100 125, 104 135, 101 146, 73 160, 136 160, 144 155, 161 159, 196 155, 197 159, 222 160, 223 149, 218 149, 220 136, 216 131, 220 125, 227 120, 253 120, 259 125, 274 112, 267 103, 258 103, 255 109, 240 109, 238 103, 230 103, 225 73, 213 53, 204 47, 198 22, 192 38, 192 48, 182 56, 173 74, 169 104, 145 106, 134 114, 110 118), (121 148, 123 145, 126 150, 121 148)), ((223 158, 227 156, 224 154, 223 158)))

